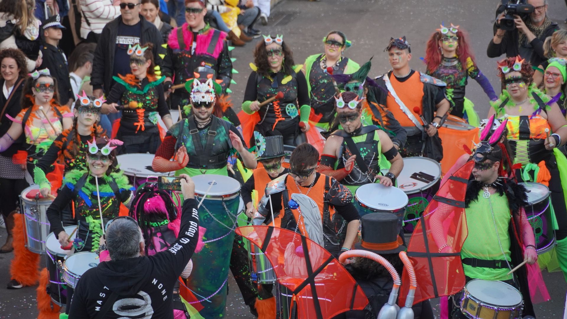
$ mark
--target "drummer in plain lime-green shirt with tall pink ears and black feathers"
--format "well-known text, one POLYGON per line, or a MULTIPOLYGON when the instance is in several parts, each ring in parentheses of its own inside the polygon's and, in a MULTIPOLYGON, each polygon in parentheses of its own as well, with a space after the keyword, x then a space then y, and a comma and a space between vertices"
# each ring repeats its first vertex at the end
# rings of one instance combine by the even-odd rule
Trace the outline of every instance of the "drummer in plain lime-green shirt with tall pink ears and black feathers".
MULTIPOLYGON (((493 117, 488 123, 493 123, 493 117)), ((506 120, 490 135, 492 125, 486 125, 481 142, 476 144, 471 160, 475 162, 465 195, 466 231, 460 257, 466 281, 472 279, 500 280, 519 289, 523 295, 523 315, 534 316, 530 299, 526 267, 514 274, 507 273, 527 261, 538 260, 534 232, 527 220, 526 188, 518 184, 510 170, 505 145, 501 142, 506 120)), ((431 217, 431 230, 439 253, 455 253, 447 242, 448 230, 443 220, 451 211, 438 211, 431 217)), ((539 271, 539 267, 534 267, 539 271)), ((530 268, 530 271, 534 268, 530 268)), ((460 296, 452 296, 459 304, 460 296)), ((466 318, 459 308, 452 308, 453 318, 466 318)))

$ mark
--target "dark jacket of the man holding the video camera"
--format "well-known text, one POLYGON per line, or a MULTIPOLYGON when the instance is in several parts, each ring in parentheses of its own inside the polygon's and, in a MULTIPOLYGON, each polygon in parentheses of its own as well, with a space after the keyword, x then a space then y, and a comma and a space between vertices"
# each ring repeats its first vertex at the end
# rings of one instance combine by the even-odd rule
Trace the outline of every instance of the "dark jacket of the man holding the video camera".
MULTIPOLYGON (((494 26, 494 33, 496 34, 496 25, 494 26)), ((541 62, 547 60, 547 57, 543 54, 543 42, 545 38, 551 36, 553 32, 559 30, 556 22, 552 22, 551 25, 545 29, 545 31, 541 32, 539 37, 536 37, 534 40, 530 42, 531 47, 534 49, 532 56, 530 58, 530 63, 533 66, 538 66, 541 62)), ((488 48, 486 48, 486 55, 488 57, 499 57, 502 54, 506 54, 506 57, 515 57, 520 55, 519 48, 518 48, 518 28, 514 28, 513 31, 506 31, 504 33, 504 37, 502 38, 502 42, 500 44, 494 44, 493 40, 490 40, 488 44, 488 48)))

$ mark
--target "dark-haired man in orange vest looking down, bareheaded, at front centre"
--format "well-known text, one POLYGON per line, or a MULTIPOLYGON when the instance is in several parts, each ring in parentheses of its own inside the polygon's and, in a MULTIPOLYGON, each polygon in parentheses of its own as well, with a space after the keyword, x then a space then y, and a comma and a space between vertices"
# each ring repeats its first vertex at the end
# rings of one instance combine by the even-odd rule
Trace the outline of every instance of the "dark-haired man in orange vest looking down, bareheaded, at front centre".
POLYGON ((360 216, 350 190, 318 173, 318 159, 319 152, 311 144, 297 146, 291 153, 289 173, 266 185, 253 224, 272 224, 273 212, 275 226, 299 232, 338 256, 352 247, 360 216), (338 236, 335 214, 348 223, 344 242, 338 236))

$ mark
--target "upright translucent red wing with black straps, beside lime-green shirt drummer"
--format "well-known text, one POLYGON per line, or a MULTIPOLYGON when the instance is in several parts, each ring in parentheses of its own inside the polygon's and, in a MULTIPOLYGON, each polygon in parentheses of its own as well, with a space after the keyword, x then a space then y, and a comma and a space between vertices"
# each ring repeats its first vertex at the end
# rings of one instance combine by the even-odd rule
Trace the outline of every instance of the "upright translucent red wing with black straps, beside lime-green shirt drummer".
MULTIPOLYGON (((413 304, 453 295, 465 285, 460 251, 468 236, 464 199, 474 165, 467 162, 447 179, 413 230, 407 252, 417 276, 413 304)), ((409 289, 405 269, 401 283, 399 304, 404 305, 409 289)))

